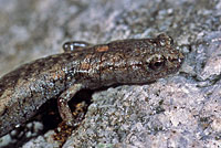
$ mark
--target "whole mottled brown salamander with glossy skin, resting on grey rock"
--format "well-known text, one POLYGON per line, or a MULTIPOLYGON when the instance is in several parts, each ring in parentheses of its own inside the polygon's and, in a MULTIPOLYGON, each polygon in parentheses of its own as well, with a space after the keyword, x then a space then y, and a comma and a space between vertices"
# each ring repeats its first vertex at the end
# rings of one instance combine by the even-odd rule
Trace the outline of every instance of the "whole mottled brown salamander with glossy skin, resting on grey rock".
POLYGON ((63 47, 64 53, 24 64, 0 78, 0 137, 54 97, 63 120, 74 125, 67 102, 77 91, 154 82, 176 73, 183 61, 166 34, 99 45, 67 42, 63 47))

